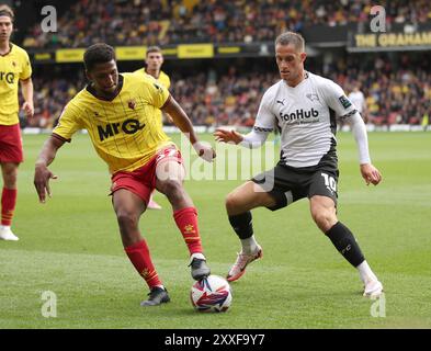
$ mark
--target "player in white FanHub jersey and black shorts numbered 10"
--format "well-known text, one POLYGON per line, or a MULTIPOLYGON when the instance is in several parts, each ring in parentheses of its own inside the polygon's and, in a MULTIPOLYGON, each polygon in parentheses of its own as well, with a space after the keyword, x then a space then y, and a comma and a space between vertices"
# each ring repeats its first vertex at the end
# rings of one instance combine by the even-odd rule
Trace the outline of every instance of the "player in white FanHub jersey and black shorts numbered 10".
POLYGON ((305 42, 299 34, 281 34, 275 39, 275 59, 282 79, 264 93, 253 129, 247 135, 225 129, 214 133, 218 141, 234 141, 246 147, 262 145, 274 128, 281 134, 279 163, 226 197, 229 223, 241 242, 241 251, 227 280, 238 280, 249 263, 262 257, 250 211, 261 206, 275 211, 306 197, 318 228, 358 269, 364 295, 376 297, 382 294, 383 285, 353 234, 337 217, 337 118, 352 127, 366 184, 378 184, 382 176, 371 163, 365 125, 356 107, 333 81, 304 69, 306 56, 305 42))

